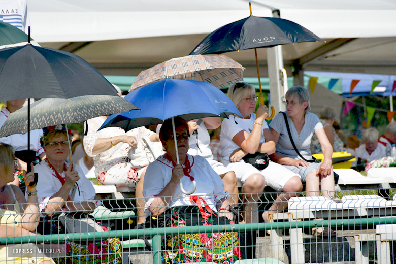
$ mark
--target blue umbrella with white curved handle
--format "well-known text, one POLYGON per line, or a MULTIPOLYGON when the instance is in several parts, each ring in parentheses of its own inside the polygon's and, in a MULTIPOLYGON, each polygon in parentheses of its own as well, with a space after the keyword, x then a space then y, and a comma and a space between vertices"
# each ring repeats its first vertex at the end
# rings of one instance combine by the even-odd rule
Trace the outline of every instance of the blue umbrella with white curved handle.
MULTIPOLYGON (((100 129, 116 126, 128 131, 144 125, 161 124, 172 118, 175 146, 174 117, 189 121, 211 116, 228 118, 231 114, 242 116, 227 95, 214 85, 201 81, 164 79, 134 90, 125 99, 142 110, 111 115, 100 129)), ((176 157, 179 164, 177 147, 176 157)), ((187 192, 180 180, 180 189, 185 194, 191 194, 195 191, 195 181, 193 184, 194 188, 187 192)))

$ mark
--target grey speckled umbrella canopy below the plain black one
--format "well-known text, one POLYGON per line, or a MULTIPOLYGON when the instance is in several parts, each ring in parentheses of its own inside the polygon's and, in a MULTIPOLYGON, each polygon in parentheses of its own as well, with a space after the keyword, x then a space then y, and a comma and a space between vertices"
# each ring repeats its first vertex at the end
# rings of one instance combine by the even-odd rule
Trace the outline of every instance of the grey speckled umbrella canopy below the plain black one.
MULTIPOLYGON (((84 120, 114 113, 139 110, 119 96, 87 95, 71 99, 42 99, 30 105, 30 130, 51 125, 80 123, 84 120)), ((27 106, 7 118, 0 137, 26 133, 27 106)))

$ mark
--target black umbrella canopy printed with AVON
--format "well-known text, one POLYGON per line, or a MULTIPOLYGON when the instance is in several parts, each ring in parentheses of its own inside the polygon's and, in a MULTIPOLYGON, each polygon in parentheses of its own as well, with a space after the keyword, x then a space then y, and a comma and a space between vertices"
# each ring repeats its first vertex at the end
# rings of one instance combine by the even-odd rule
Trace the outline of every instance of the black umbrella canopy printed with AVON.
POLYGON ((290 20, 249 16, 216 29, 190 55, 221 54, 309 41, 323 40, 290 20))

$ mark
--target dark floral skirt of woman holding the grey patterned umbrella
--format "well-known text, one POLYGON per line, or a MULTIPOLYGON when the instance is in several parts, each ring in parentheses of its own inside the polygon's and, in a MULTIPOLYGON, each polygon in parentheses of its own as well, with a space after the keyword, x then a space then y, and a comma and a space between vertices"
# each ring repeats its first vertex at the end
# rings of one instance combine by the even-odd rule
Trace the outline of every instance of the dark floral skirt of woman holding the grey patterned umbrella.
MULTIPOLYGON (((65 228, 59 223, 58 215, 51 218, 41 219, 37 228, 38 232, 43 235, 47 234, 65 234, 65 228)), ((106 227, 102 226, 106 231, 106 227)), ((80 241, 79 241, 80 242, 80 241)), ((51 244, 66 245, 66 257, 53 258, 57 264, 107 264, 122 263, 122 247, 119 239, 106 239, 103 241, 82 242, 81 244, 72 241, 58 242, 52 241, 51 244)))

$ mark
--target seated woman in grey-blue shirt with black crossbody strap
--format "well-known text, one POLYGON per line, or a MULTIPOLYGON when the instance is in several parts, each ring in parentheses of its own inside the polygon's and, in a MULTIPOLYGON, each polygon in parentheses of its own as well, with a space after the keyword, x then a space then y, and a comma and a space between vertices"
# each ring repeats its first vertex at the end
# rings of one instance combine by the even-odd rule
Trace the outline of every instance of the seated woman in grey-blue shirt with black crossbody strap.
MULTIPOLYGON (((271 159, 301 176, 306 184, 306 196, 320 196, 320 186, 322 195, 331 198, 334 195, 333 147, 328 141, 319 118, 309 112, 311 107, 308 90, 302 86, 295 86, 286 92, 285 97, 286 116, 292 140, 301 156, 309 162, 301 158, 294 150, 282 113, 276 115, 270 123, 271 134, 276 143, 276 152, 271 155, 271 159), (324 160, 321 163, 314 162, 309 149, 314 134, 324 154, 324 160)), ((313 230, 314 235, 317 236, 328 232, 328 228, 313 230)))

